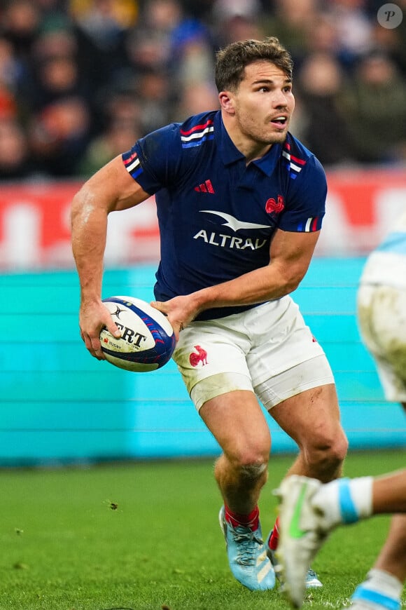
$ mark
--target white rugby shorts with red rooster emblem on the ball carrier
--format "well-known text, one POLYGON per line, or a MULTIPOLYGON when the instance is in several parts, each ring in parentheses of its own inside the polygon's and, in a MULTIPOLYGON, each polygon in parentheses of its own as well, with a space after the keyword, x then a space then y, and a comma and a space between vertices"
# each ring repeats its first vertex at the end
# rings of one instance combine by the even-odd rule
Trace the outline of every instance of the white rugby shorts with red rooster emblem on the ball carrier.
POLYGON ((323 349, 289 296, 190 323, 173 358, 197 410, 234 390, 255 392, 269 410, 305 390, 334 384, 323 349))

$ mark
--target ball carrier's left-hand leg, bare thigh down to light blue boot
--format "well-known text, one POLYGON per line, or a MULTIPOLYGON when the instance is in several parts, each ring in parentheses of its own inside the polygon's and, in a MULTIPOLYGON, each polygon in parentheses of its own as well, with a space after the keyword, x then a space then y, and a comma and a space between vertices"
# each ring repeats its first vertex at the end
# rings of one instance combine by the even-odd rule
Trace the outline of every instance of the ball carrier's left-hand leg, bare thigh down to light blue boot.
POLYGON ((270 451, 264 414, 253 392, 232 391, 205 402, 200 415, 223 449, 215 476, 224 501, 219 519, 232 574, 248 589, 271 589, 275 576, 258 510, 270 451))

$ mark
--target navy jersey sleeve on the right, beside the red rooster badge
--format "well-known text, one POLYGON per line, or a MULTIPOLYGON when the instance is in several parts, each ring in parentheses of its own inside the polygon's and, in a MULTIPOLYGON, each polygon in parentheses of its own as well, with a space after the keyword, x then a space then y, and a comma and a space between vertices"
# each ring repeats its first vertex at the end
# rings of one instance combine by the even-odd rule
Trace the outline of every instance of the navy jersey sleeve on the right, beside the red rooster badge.
POLYGON ((325 215, 326 196, 325 172, 318 159, 310 156, 300 172, 290 174, 286 206, 279 229, 297 233, 319 231, 325 215))

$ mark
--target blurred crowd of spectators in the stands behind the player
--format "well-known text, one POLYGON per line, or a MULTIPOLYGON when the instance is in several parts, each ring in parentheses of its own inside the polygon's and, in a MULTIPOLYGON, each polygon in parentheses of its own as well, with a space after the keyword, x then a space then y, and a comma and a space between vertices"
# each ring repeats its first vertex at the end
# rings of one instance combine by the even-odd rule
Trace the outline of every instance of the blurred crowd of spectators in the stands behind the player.
POLYGON ((0 179, 86 178, 138 137, 218 107, 216 50, 278 36, 291 131, 326 168, 406 165, 406 0, 0 1, 0 179))

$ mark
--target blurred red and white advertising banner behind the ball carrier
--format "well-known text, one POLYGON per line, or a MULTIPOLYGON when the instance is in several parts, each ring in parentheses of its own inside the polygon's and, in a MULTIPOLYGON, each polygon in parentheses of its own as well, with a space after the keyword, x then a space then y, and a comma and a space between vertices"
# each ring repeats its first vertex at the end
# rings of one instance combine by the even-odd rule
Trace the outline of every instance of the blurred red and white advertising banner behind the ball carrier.
MULTIPOLYGON (((73 266, 69 233, 71 199, 80 184, 7 184, 0 189, 0 270, 73 266)), ((365 255, 406 209, 403 170, 328 173, 327 213, 317 255, 365 255)), ((151 197, 109 217, 106 266, 159 258, 158 223, 151 197)))

